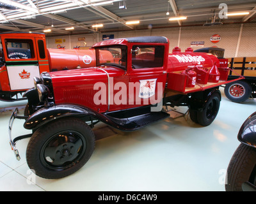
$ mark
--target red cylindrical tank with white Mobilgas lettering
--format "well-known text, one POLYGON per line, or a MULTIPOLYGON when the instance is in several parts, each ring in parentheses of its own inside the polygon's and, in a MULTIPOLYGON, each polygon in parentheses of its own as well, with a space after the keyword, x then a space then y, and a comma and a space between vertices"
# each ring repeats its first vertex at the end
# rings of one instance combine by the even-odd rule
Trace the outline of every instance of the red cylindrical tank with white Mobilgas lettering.
MULTIPOLYGON (((175 47, 175 50, 178 50, 175 47)), ((168 55, 168 72, 183 71, 188 67, 202 66, 204 68, 212 68, 214 62, 216 66, 220 67, 220 62, 217 57, 212 54, 203 52, 191 52, 188 49, 187 52, 173 52, 168 55)))

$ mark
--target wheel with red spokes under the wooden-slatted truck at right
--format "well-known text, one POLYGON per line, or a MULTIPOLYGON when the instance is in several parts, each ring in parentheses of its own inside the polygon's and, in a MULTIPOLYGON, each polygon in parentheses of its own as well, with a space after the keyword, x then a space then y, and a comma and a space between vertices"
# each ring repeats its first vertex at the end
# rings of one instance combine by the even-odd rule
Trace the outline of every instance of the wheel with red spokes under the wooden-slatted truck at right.
POLYGON ((252 95, 252 87, 247 82, 237 81, 227 84, 224 92, 230 101, 241 103, 252 95))

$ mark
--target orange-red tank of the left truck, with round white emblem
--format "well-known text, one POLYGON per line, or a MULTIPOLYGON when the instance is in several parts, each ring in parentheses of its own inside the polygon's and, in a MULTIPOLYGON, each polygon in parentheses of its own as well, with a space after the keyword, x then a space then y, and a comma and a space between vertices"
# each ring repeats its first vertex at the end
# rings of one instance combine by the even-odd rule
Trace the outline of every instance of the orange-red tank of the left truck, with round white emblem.
POLYGON ((63 69, 89 68, 96 65, 95 50, 47 50, 49 57, 50 71, 60 71, 63 69))

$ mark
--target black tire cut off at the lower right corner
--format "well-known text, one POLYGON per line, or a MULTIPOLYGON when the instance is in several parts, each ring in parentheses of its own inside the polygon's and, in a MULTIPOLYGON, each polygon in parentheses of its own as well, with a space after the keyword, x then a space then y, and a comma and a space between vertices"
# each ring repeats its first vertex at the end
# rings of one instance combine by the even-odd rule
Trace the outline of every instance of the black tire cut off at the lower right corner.
POLYGON ((256 185, 256 149, 241 143, 234 152, 227 169, 226 191, 243 191, 242 184, 256 185))

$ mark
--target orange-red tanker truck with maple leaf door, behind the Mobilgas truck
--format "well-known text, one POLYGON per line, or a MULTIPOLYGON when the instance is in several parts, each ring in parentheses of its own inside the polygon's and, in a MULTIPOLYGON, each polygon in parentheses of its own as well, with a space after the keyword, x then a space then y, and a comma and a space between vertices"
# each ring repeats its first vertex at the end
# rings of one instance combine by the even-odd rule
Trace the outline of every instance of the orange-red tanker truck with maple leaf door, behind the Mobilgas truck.
POLYGON ((0 100, 16 101, 43 71, 95 66, 95 50, 47 49, 45 34, 0 34, 0 100))

